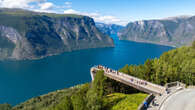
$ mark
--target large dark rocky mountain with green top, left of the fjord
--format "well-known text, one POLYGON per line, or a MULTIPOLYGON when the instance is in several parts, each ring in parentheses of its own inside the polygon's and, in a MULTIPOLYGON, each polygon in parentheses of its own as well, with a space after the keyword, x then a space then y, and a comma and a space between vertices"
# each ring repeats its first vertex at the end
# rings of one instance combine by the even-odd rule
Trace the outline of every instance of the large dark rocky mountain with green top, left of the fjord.
POLYGON ((0 9, 0 59, 39 59, 113 46, 87 16, 0 9))

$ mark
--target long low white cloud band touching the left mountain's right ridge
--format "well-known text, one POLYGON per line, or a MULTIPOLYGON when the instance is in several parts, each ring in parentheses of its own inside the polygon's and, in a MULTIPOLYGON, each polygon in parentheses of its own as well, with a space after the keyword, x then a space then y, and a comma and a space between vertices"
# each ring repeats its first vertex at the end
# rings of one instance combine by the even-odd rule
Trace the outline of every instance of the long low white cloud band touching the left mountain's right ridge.
POLYGON ((86 13, 86 12, 79 12, 73 9, 67 9, 64 11, 64 14, 78 14, 78 15, 85 15, 92 17, 96 22, 102 22, 106 24, 119 24, 119 25, 126 25, 128 21, 121 20, 115 16, 109 15, 101 15, 99 13, 86 13))

